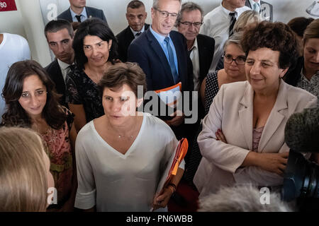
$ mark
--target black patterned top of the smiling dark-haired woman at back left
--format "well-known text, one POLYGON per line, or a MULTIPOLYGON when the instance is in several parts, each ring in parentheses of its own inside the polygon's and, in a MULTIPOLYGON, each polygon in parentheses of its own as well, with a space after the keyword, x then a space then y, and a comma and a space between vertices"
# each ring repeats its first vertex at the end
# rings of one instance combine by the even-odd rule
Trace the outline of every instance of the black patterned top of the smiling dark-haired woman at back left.
POLYGON ((84 70, 77 66, 67 74, 67 102, 72 105, 83 105, 86 122, 101 117, 104 114, 99 88, 94 81, 86 75, 84 70))

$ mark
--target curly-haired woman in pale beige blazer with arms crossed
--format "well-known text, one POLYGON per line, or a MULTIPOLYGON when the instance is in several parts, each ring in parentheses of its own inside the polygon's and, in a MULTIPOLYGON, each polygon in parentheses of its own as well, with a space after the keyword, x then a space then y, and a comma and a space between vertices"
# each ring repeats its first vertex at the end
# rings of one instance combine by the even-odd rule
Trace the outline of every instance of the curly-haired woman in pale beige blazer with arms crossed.
POLYGON ((241 43, 247 81, 220 87, 198 136, 200 198, 236 183, 279 189, 289 155, 286 121, 317 104, 317 97, 281 79, 298 57, 288 25, 263 21, 245 30, 241 43))

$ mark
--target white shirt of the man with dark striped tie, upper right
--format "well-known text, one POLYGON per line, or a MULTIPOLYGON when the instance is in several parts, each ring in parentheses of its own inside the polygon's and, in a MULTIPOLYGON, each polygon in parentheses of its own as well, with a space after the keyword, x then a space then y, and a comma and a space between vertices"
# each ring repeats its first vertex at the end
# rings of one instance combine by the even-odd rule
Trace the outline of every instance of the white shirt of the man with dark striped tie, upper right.
MULTIPOLYGON (((247 6, 236 8, 236 19, 242 12, 247 10, 251 10, 251 8, 247 6)), ((213 37, 213 39, 215 40, 215 52, 209 72, 215 71, 218 61, 223 55, 223 46, 226 40, 228 40, 229 35, 229 13, 231 12, 224 8, 222 4, 220 4, 220 6, 213 9, 213 11, 207 13, 203 19, 203 25, 201 26, 200 33, 203 35, 208 35, 209 37, 213 37)))

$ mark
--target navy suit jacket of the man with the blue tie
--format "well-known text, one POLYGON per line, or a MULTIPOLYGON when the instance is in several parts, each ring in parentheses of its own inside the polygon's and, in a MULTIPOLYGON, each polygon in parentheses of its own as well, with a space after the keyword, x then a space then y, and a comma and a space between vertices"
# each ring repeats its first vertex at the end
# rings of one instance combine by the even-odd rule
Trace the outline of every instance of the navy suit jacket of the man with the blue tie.
MULTIPOLYGON (((187 52, 184 35, 171 31, 177 54, 181 90, 194 90, 193 65, 187 52)), ((159 90, 175 85, 169 62, 162 47, 157 42, 150 29, 135 38, 128 47, 128 61, 137 62, 146 74, 147 90, 159 90)))

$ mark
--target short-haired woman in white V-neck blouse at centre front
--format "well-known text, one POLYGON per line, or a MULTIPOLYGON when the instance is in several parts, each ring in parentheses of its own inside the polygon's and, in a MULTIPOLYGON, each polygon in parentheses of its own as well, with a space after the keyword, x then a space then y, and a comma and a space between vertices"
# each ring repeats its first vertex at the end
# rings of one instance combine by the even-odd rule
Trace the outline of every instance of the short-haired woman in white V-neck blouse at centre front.
POLYGON ((155 194, 159 177, 177 148, 164 121, 137 112, 145 93, 145 73, 132 63, 111 66, 99 82, 105 114, 86 124, 76 142, 78 170, 75 207, 97 211, 164 208, 184 172, 155 194))

